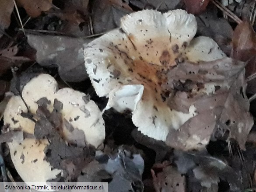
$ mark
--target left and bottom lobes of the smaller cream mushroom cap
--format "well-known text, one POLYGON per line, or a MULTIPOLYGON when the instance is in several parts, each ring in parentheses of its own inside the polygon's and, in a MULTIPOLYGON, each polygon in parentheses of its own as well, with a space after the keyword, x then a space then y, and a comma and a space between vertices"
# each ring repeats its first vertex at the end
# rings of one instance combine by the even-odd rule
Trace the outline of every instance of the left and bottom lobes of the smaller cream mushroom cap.
MULTIPOLYGON (((34 133, 35 122, 21 116, 21 112, 28 112, 21 97, 13 96, 4 112, 4 124, 10 129, 21 129, 25 133, 34 133)), ((46 182, 55 179, 61 170, 54 169, 44 160, 44 149, 48 140, 25 138, 21 143, 8 143, 11 159, 16 171, 25 182, 46 182)))

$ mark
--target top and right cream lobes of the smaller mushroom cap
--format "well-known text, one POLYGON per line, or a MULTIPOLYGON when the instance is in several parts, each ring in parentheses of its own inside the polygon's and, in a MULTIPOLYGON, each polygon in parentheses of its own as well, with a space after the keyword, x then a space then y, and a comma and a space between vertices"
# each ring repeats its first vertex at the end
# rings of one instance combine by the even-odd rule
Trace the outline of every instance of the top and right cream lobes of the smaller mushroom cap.
POLYGON ((98 147, 105 139, 105 124, 101 112, 94 101, 84 101, 86 95, 70 88, 58 90, 56 80, 48 75, 41 74, 25 85, 22 97, 29 110, 35 113, 39 99, 46 97, 51 101, 49 111, 53 111, 54 99, 63 103, 61 114, 63 119, 74 127, 84 131, 86 143, 98 147), (39 86, 40 83, 40 86, 39 86))

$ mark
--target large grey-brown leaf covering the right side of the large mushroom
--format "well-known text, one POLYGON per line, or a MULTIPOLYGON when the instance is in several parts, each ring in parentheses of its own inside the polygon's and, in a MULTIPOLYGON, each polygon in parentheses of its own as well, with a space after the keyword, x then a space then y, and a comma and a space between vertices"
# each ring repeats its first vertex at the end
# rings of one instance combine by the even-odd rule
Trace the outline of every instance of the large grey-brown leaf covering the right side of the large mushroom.
POLYGON ((212 62, 179 63, 168 72, 166 89, 172 93, 168 98, 170 108, 188 112, 189 106, 194 105, 197 115, 177 131, 170 130, 167 145, 182 150, 195 146, 200 149, 211 137, 234 138, 245 149, 253 119, 245 94, 244 66, 240 61, 224 58, 212 62), (214 85, 214 90, 208 94, 203 92, 210 84, 214 85))

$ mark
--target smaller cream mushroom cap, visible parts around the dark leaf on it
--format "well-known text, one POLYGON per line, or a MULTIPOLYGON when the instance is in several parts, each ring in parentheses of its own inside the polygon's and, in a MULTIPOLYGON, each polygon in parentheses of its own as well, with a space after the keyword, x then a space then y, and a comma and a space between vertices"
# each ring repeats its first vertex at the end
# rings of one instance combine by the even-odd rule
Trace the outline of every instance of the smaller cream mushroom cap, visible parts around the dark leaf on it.
MULTIPOLYGON (((21 113, 27 113, 29 109, 30 113, 36 114, 39 101, 47 101, 47 109, 52 112, 54 104, 59 101, 62 104, 60 111, 62 122, 68 122, 74 129, 84 132, 85 140, 77 142, 77 146, 84 147, 86 144, 91 144, 97 148, 103 143, 105 125, 101 112, 95 102, 88 99, 84 93, 70 88, 58 90, 58 84, 52 76, 40 74, 25 84, 22 98, 13 96, 5 109, 4 125, 10 130, 19 129, 33 135, 35 122, 25 118, 21 113)), ((63 123, 63 139, 68 143, 74 142, 73 133, 63 123)), ((53 168, 46 161, 44 149, 47 145, 49 145, 47 139, 36 140, 33 137, 25 137, 21 143, 15 140, 8 143, 11 159, 24 182, 46 182, 61 173, 61 170, 53 168)))

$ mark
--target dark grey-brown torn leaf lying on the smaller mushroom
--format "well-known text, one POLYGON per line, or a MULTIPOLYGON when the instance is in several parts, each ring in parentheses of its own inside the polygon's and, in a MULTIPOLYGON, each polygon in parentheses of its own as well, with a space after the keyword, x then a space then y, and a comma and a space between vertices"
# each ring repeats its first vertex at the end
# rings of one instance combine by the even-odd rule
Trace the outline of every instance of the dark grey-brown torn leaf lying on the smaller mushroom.
MULTIPOLYGON (((81 140, 85 140, 84 133, 81 130, 69 129, 72 130, 68 135, 71 140, 68 144, 64 140, 62 134, 63 120, 60 113, 63 104, 60 101, 54 100, 53 112, 49 112, 47 109, 47 105, 50 103, 47 98, 41 98, 37 103, 39 107, 36 114, 27 113, 23 116, 36 119, 34 130, 36 139, 49 140, 50 144, 44 150, 46 161, 54 168, 62 170, 62 174, 54 181, 60 179, 67 182, 73 181, 80 175, 84 166, 93 160, 95 149, 90 145, 85 146, 85 143, 81 142, 81 140), (77 135, 79 135, 79 138, 74 138, 77 135)), ((65 126, 68 126, 68 122, 65 123, 65 126)))

